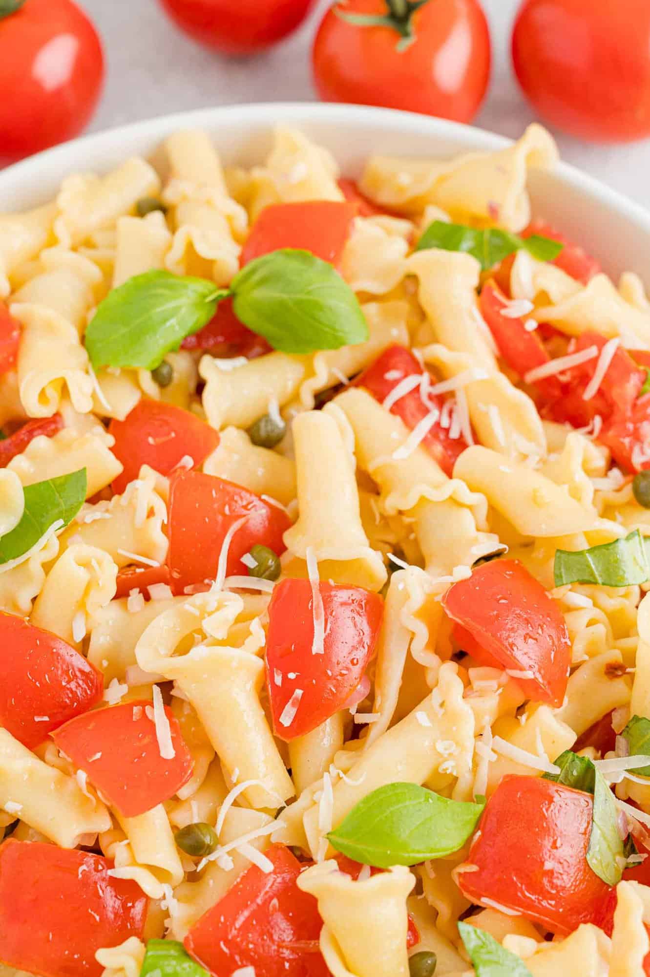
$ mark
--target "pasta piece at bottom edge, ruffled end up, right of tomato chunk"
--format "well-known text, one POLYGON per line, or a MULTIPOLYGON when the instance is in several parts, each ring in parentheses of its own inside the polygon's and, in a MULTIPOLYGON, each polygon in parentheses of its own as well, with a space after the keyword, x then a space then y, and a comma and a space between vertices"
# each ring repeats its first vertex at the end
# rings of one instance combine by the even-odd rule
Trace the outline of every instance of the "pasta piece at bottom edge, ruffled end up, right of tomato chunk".
POLYGON ((323 862, 302 872, 297 884, 318 900, 321 950, 335 977, 406 977, 406 899, 415 878, 405 866, 354 881, 336 862, 323 862))

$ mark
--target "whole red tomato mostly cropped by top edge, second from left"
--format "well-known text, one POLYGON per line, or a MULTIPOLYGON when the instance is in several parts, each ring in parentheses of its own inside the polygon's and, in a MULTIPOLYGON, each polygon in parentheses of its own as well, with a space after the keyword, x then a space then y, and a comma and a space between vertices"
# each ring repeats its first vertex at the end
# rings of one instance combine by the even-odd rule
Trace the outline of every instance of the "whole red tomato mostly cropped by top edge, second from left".
POLYGON ((314 0, 160 0, 185 33, 227 55, 276 44, 305 20, 314 0))

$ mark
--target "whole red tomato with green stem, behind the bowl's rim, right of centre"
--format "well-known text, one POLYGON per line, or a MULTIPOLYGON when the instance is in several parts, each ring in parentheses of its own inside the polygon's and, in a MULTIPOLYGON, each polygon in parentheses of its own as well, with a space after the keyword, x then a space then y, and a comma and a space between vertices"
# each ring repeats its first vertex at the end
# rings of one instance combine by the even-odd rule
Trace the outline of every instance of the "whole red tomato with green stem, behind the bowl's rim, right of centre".
POLYGON ((348 0, 320 24, 312 65, 328 102, 468 122, 487 89, 490 34, 478 0, 348 0))

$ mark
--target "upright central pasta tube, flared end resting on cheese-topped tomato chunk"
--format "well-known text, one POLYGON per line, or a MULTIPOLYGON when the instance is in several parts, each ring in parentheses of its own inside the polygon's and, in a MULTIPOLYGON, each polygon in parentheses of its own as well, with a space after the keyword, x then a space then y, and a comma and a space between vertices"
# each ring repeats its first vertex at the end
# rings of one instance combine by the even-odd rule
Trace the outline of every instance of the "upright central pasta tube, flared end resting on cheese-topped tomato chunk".
POLYGON ((323 579, 379 590, 386 568, 363 531, 354 459, 335 415, 329 406, 307 411, 292 429, 300 517, 284 534, 293 556, 283 560, 285 573, 305 576, 311 550, 323 579))

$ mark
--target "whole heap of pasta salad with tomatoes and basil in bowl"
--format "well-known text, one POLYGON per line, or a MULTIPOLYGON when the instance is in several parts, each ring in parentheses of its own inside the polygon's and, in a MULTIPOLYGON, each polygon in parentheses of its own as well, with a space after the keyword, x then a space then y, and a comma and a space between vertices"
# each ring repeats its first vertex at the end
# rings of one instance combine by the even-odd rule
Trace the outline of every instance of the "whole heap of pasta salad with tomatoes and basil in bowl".
POLYGON ((531 126, 0 215, 0 977, 650 974, 650 305, 531 126))

